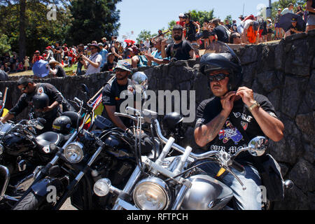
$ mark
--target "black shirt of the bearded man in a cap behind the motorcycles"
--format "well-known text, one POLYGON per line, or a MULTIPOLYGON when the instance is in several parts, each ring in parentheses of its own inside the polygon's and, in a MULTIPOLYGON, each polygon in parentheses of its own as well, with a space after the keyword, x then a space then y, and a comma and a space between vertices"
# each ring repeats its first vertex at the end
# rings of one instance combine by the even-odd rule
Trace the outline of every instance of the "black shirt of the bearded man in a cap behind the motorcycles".
MULTIPOLYGON (((123 104, 123 102, 129 96, 126 96, 125 99, 120 99, 120 93, 123 92, 124 90, 128 90, 128 86, 131 86, 131 85, 132 85, 132 82, 129 78, 128 78, 128 83, 126 85, 119 85, 116 78, 111 83, 106 83, 102 91, 103 105, 116 106, 116 112, 126 113, 125 110, 120 111, 120 105, 123 104)), ((102 115, 105 118, 108 118, 109 120, 111 120, 111 118, 109 118, 109 115, 106 112, 106 109, 104 109, 102 115)), ((120 119, 123 121, 126 127, 130 127, 132 125, 132 120, 130 120, 129 118, 120 117, 120 119)))

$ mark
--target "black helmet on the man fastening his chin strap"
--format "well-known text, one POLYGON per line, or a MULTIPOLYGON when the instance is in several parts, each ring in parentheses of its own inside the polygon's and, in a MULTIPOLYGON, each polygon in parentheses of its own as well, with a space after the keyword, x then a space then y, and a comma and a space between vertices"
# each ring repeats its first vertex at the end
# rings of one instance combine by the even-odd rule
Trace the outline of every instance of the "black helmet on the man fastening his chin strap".
POLYGON ((207 49, 215 52, 202 56, 200 72, 208 76, 211 71, 228 70, 230 72, 228 90, 236 91, 243 80, 243 69, 235 52, 221 41, 211 43, 207 49))

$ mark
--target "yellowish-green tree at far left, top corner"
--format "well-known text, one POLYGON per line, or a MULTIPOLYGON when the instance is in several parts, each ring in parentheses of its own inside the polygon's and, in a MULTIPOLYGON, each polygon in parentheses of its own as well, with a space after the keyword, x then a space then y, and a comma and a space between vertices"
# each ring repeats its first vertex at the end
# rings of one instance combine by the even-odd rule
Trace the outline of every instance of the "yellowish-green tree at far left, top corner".
POLYGON ((0 6, 0 33, 8 36, 11 50, 23 55, 32 55, 34 50, 42 50, 55 41, 64 41, 71 22, 67 8, 57 8, 56 20, 48 20, 47 5, 37 1, 27 1, 24 25, 21 21, 21 4, 12 3, 0 6), (25 38, 23 37, 25 36, 25 38), (24 52, 25 50, 25 52, 24 52))

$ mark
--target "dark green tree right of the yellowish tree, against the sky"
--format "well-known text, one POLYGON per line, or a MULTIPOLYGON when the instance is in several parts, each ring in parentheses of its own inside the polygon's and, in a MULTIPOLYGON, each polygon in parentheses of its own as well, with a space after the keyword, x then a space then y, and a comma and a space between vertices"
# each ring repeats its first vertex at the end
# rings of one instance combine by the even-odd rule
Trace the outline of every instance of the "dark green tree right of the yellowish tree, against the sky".
POLYGON ((110 39, 118 35, 120 10, 116 4, 121 0, 75 0, 70 11, 73 22, 69 29, 69 43, 89 43, 102 37, 110 39))

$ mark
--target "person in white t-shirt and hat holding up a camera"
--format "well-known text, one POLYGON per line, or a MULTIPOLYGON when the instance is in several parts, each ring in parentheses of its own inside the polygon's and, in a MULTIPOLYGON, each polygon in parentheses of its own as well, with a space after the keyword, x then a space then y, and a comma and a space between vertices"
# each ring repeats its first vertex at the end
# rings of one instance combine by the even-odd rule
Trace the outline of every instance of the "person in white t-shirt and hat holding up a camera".
POLYGON ((83 64, 84 68, 86 69, 85 75, 90 75, 94 73, 99 73, 101 71, 101 64, 102 64, 102 55, 99 54, 101 48, 97 43, 92 43, 87 45, 91 50, 91 56, 87 58, 81 52, 80 54, 80 62, 83 64))

